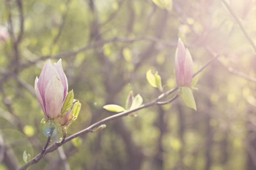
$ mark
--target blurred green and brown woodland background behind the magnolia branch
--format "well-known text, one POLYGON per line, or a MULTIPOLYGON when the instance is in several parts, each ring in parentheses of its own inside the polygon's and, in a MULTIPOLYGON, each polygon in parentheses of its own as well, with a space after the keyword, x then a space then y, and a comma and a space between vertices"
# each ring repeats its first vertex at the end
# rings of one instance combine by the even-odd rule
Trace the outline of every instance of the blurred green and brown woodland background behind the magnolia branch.
MULTIPOLYGON (((30 169, 256 169, 255 49, 221 1, 169 2, 0 0, 0 24, 9 32, 0 40, 0 169, 20 167, 24 150, 33 158, 47 141, 34 81, 48 59, 62 58, 69 90, 84 101, 70 135, 114 114, 104 105, 125 107, 130 91, 143 103, 160 95, 146 80, 149 69, 162 76, 164 91, 176 87, 179 37, 195 71, 220 55, 199 74, 197 111, 181 97, 142 109, 65 143, 30 169)), ((252 2, 233 10, 256 41, 255 2, 233 2, 252 2)))

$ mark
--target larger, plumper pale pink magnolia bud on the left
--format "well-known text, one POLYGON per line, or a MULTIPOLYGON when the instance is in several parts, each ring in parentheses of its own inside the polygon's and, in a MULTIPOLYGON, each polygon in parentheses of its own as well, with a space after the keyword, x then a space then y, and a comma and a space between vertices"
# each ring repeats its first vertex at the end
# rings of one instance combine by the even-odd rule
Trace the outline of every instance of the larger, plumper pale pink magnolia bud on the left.
POLYGON ((44 118, 54 119, 60 115, 68 92, 68 80, 61 65, 61 59, 51 64, 48 60, 39 78, 35 79, 35 93, 44 112, 44 118))

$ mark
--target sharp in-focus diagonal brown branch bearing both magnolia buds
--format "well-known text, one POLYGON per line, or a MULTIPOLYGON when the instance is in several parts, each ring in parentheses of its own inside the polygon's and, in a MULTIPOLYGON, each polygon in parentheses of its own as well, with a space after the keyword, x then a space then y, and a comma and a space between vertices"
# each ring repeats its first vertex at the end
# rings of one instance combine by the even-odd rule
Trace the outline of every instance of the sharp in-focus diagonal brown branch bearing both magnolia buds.
MULTIPOLYGON (((197 74, 199 74, 201 71, 203 71, 205 69, 205 67, 207 67, 210 63, 212 63, 219 55, 217 54, 216 56, 214 56, 213 58, 209 59, 208 62, 206 62, 199 70, 196 71, 195 74, 193 74, 193 76, 196 76, 197 74)), ((124 117, 124 116, 127 116, 129 115, 130 113, 133 113, 133 112, 136 112, 136 111, 139 111, 141 109, 144 109, 144 108, 148 108, 148 107, 151 107, 153 105, 164 105, 164 104, 169 104, 171 103, 172 101, 176 100, 177 97, 180 96, 180 92, 177 92, 177 94, 172 97, 171 99, 167 100, 167 101, 160 101, 162 99, 164 99, 166 96, 169 96, 171 95, 172 93, 174 93, 175 91, 178 90, 178 86, 175 87, 175 88, 172 88, 171 90, 167 91, 167 92, 164 92, 163 94, 159 95, 156 99, 146 103, 146 104, 143 104, 141 105, 140 107, 138 108, 135 108, 133 110, 130 110, 130 111, 124 111, 124 112, 121 112, 121 113, 117 113, 117 114, 114 114, 113 116, 109 116, 109 117, 106 117, 104 118, 103 120, 100 120, 96 123, 94 123, 93 125, 90 125, 88 128, 84 129, 84 130, 81 130, 71 136, 69 136, 68 138, 64 138, 61 139, 60 142, 55 142, 53 143, 51 146, 49 146, 45 151, 42 151, 40 154, 36 155, 32 160, 30 160, 30 162, 22 165, 22 167, 19 168, 19 170, 22 170, 22 169, 27 169, 30 165, 32 164, 35 164, 37 162, 39 162, 40 159, 43 158, 44 155, 48 154, 49 152, 53 152, 55 150, 57 150, 57 148, 59 148, 61 145, 63 145, 64 143, 68 142, 68 141, 71 141, 72 139, 74 138, 77 138, 77 137, 80 137, 81 135, 84 135, 86 133, 93 133, 93 129, 94 128, 97 128, 98 126, 102 125, 102 124, 105 124, 106 122, 109 122, 109 121, 112 121, 112 120, 116 120, 118 118, 121 118, 121 117, 124 117)), ((48 138, 49 140, 49 138, 48 138)), ((47 140, 47 143, 48 143, 48 140, 47 140)), ((48 146, 48 145, 47 145, 48 146)), ((45 148, 45 147, 44 147, 45 148)))

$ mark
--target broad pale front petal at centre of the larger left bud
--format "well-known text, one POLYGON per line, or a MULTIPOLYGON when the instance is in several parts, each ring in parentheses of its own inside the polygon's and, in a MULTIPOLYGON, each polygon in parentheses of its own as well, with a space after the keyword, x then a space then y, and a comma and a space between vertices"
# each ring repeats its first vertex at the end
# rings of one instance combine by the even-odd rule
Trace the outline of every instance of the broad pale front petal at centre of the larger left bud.
POLYGON ((63 84, 60 79, 53 75, 46 87, 46 114, 49 118, 59 116, 63 104, 63 84))

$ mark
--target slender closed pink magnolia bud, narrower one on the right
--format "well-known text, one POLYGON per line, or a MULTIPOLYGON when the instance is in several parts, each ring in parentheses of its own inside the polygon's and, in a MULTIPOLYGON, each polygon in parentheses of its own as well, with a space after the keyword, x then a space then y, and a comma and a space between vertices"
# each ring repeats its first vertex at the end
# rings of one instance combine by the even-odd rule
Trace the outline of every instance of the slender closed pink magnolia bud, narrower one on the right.
POLYGON ((177 85, 190 85, 193 78, 193 61, 191 54, 180 39, 175 53, 175 72, 177 85))

